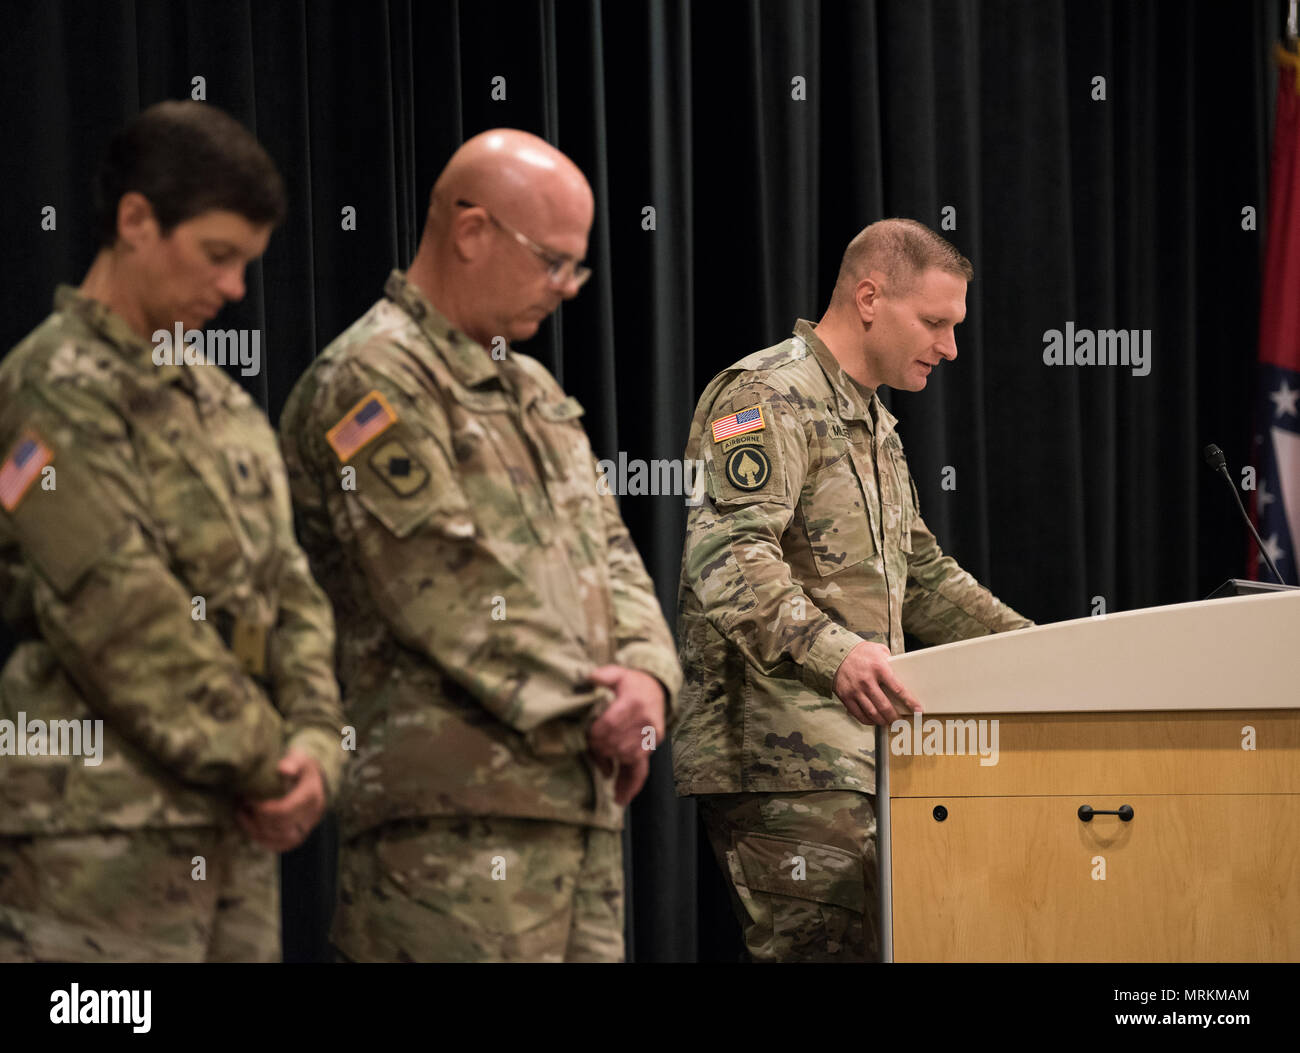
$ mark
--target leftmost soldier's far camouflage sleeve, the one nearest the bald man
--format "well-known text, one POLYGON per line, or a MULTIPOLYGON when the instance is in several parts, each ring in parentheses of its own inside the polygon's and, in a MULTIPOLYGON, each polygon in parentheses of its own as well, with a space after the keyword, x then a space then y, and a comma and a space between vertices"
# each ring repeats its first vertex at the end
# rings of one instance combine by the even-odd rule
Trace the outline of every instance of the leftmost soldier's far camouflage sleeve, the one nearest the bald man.
POLYGON ((299 749, 320 764, 328 801, 343 774, 343 710, 334 677, 334 615, 294 537, 292 504, 285 465, 270 465, 278 546, 280 620, 270 651, 276 707, 285 719, 287 749, 299 749))

